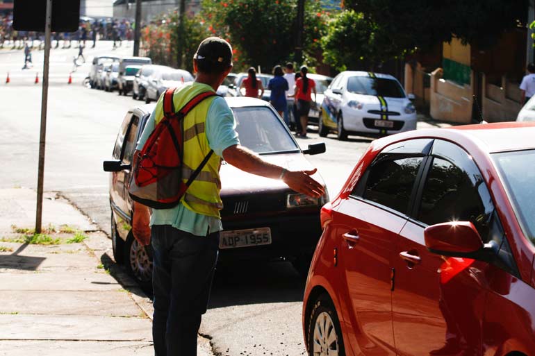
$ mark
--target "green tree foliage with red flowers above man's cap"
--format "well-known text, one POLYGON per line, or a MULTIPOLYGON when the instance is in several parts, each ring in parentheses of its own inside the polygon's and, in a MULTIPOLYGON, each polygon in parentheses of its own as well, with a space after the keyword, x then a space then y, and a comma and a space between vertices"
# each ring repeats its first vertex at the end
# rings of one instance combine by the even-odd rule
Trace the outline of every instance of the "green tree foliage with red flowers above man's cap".
MULTIPOLYGON (((270 71, 292 59, 297 17, 296 0, 204 0, 208 30, 228 40, 235 51, 237 70, 260 65, 270 71)), ((327 14, 317 0, 307 1, 304 18, 304 54, 318 50, 327 14)))

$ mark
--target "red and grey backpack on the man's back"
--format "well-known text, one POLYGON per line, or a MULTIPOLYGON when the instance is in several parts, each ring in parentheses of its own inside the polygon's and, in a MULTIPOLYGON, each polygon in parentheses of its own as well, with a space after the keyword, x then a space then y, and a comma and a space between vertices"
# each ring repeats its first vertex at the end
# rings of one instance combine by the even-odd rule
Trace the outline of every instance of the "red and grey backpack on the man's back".
POLYGON ((215 96, 214 92, 201 92, 178 112, 174 110, 173 94, 169 88, 163 96, 163 119, 156 125, 143 149, 133 160, 129 195, 143 205, 154 209, 169 209, 178 205, 180 198, 197 178, 213 151, 202 160, 186 183, 182 180, 183 124, 197 104, 215 96))

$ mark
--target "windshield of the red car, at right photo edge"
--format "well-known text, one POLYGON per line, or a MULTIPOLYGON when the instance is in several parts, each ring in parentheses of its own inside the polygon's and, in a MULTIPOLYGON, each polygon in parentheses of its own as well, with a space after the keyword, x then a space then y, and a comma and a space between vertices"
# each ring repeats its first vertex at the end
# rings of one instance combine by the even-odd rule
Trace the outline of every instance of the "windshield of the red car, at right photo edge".
POLYGON ((509 199, 526 237, 535 244, 535 150, 494 153, 509 199))

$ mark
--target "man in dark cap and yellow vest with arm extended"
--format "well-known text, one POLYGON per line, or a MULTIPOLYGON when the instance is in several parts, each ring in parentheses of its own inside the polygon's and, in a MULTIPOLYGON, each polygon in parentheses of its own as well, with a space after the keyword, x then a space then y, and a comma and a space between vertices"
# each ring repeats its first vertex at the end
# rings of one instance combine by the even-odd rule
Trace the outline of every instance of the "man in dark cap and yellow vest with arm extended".
MULTIPOLYGON (((193 68, 195 80, 175 90, 174 108, 181 108, 201 92, 215 93, 232 69, 230 44, 220 37, 206 38, 193 56, 193 68)), ((163 96, 147 122, 134 157, 162 118, 163 96)), ((243 171, 283 180, 302 194, 324 194, 324 187, 311 178, 316 169, 288 171, 240 146, 236 121, 224 98, 205 99, 184 120, 185 124, 203 129, 185 143, 183 162, 198 167, 211 150, 215 153, 203 169, 202 180, 195 180, 171 209, 153 210, 150 214, 148 207, 134 203, 133 235, 142 245, 150 243, 154 251, 152 330, 156 356, 197 355, 197 332, 210 296, 222 230, 222 159, 243 171)))

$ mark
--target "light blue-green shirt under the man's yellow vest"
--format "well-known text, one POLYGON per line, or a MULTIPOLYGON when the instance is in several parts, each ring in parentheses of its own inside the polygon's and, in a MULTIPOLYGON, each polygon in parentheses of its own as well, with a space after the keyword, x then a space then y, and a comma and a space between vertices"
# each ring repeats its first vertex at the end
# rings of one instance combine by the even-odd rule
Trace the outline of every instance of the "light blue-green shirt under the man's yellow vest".
MULTIPOLYGON (((192 83, 192 85, 202 85, 206 90, 213 91, 209 85, 202 83, 192 83)), ((154 111, 152 112, 147 125, 143 130, 136 149, 141 150, 147 142, 155 127, 154 111)), ((206 139, 213 152, 223 157, 223 151, 230 146, 240 144, 238 133, 236 132, 236 120, 232 110, 227 105, 224 98, 217 96, 208 108, 206 117, 206 139)), ((150 225, 171 225, 174 228, 190 232, 197 236, 206 236, 207 232, 223 230, 221 219, 208 217, 208 215, 197 214, 179 203, 171 209, 153 209, 150 225)))

